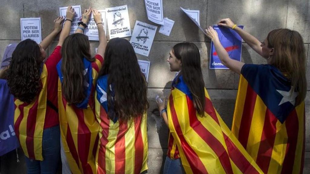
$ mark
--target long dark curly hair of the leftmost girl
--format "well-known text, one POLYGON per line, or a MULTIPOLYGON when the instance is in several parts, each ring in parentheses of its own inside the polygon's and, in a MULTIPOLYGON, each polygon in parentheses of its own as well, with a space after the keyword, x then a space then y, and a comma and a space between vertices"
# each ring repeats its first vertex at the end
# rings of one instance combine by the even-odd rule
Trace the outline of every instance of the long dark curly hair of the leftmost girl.
POLYGON ((35 41, 26 39, 16 46, 7 70, 7 83, 15 98, 31 103, 40 93, 42 62, 40 46, 35 41))

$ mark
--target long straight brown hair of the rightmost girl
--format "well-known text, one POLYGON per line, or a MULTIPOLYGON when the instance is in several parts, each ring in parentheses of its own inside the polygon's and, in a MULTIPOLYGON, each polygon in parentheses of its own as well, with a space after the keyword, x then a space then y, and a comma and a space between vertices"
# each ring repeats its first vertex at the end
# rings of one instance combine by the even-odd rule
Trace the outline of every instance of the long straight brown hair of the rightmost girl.
POLYGON ((268 36, 268 47, 274 48, 274 54, 270 64, 277 67, 291 80, 293 89, 299 94, 296 98, 296 106, 305 98, 307 93, 306 80, 306 52, 303 38, 294 30, 275 29, 268 36))

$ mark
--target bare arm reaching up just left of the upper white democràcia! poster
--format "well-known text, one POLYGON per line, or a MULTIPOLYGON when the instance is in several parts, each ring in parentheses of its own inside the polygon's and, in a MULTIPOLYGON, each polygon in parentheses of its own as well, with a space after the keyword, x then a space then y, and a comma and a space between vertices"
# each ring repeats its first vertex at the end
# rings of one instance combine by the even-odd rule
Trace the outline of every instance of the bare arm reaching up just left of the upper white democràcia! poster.
POLYGON ((101 14, 97 10, 92 10, 94 15, 95 23, 97 24, 98 33, 99 33, 99 46, 97 50, 97 54, 104 56, 105 47, 107 46, 107 37, 105 36, 101 14))

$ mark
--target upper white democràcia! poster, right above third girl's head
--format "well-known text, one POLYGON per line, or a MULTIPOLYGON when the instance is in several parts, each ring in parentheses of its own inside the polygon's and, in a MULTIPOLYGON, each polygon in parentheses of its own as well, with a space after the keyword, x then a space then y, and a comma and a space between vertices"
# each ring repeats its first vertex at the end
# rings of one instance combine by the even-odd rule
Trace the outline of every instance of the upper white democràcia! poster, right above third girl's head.
POLYGON ((106 8, 110 39, 130 37, 130 21, 127 5, 106 8))

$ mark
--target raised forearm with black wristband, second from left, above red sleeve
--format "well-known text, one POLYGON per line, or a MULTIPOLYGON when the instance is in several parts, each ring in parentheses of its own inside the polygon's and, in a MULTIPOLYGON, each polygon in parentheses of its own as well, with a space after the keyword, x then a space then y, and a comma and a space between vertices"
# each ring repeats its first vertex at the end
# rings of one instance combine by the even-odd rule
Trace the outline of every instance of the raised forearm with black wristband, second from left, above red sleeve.
POLYGON ((75 14, 75 12, 74 12, 74 9, 72 8, 72 6, 68 6, 67 13, 66 13, 67 19, 64 21, 64 28, 62 29, 62 31, 60 33, 57 46, 62 46, 62 44, 64 43, 64 39, 67 36, 69 36, 74 14, 75 14))

